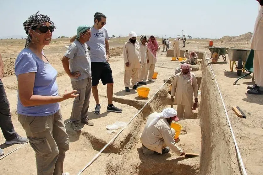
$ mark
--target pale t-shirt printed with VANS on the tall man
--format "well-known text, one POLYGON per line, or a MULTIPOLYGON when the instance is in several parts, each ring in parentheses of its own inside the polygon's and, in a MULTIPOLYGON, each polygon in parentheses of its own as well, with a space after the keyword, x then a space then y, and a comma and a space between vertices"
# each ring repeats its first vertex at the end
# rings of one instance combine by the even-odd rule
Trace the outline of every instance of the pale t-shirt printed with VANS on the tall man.
POLYGON ((107 29, 102 27, 97 30, 92 27, 90 40, 86 44, 90 47, 91 62, 104 62, 106 61, 106 48, 105 40, 110 40, 107 29))

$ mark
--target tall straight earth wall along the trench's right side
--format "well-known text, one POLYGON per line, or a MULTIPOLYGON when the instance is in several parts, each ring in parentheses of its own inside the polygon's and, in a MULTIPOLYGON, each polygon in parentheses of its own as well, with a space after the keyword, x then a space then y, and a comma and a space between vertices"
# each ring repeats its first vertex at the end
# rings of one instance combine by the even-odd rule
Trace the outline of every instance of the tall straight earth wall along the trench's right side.
POLYGON ((202 59, 200 174, 240 174, 233 137, 208 61, 202 59))

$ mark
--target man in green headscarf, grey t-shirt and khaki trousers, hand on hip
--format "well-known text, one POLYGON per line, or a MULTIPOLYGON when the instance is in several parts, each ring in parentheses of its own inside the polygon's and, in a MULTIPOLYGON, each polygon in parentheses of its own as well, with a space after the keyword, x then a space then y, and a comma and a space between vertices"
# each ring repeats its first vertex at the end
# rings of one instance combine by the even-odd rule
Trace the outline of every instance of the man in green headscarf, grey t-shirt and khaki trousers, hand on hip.
POLYGON ((70 116, 71 127, 80 131, 79 123, 94 125, 88 119, 91 93, 91 67, 90 52, 85 42, 90 40, 90 26, 82 25, 77 28, 76 40, 69 45, 68 50, 62 58, 65 72, 71 80, 73 89, 78 91, 79 96, 74 99, 70 116))

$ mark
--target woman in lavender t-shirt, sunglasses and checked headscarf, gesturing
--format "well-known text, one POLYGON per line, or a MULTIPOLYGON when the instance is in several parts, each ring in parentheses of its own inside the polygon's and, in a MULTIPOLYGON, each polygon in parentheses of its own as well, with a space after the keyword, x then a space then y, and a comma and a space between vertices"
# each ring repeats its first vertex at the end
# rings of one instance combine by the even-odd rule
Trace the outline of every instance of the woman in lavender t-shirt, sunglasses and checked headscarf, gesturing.
POLYGON ((58 96, 58 72, 42 51, 49 45, 55 29, 49 16, 37 12, 23 25, 28 37, 15 62, 18 120, 36 152, 37 174, 66 175, 63 161, 69 149, 69 137, 58 102, 78 95, 71 91, 58 96))

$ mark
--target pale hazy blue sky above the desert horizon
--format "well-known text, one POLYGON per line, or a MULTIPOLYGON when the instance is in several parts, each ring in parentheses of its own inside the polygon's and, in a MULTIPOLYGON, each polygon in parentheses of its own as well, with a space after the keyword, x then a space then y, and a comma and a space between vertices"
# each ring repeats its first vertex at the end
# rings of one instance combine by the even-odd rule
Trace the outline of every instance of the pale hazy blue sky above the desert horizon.
POLYGON ((134 31, 173 37, 184 30, 193 37, 221 38, 253 32, 257 10, 256 0, 0 0, 0 37, 25 36, 23 22, 40 11, 51 16, 56 36, 73 36, 101 12, 110 36, 134 31))

